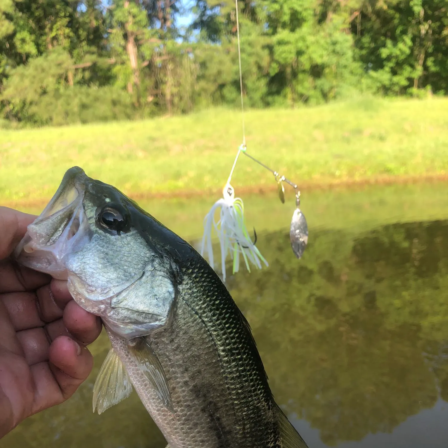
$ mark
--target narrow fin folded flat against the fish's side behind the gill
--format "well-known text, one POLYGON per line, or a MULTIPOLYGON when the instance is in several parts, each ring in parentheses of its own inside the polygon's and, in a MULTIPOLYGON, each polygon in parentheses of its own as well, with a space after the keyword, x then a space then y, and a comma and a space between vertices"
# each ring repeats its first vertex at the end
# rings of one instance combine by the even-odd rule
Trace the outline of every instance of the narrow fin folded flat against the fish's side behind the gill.
POLYGON ((168 388, 168 380, 154 350, 143 338, 138 338, 137 343, 135 345, 128 345, 128 348, 136 364, 155 388, 155 392, 160 400, 171 412, 174 412, 168 388))

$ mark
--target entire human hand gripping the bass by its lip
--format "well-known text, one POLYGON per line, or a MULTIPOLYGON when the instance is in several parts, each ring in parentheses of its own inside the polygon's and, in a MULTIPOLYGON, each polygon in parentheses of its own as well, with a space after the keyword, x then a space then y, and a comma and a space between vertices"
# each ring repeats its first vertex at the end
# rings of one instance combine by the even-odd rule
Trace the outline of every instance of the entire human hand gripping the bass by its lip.
POLYGON ((86 345, 102 327, 65 281, 10 258, 34 219, 0 207, 0 438, 76 391, 93 366, 86 345))

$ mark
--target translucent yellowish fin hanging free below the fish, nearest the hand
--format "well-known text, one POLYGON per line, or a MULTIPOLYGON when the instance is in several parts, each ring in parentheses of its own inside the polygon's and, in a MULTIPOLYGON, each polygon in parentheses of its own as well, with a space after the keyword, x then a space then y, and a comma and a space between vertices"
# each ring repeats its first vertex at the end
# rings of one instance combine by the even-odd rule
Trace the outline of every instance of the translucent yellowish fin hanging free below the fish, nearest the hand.
POLYGON ((132 392, 132 383, 121 359, 110 349, 108 356, 99 369, 93 387, 93 412, 95 408, 101 414, 111 406, 120 403, 132 392))

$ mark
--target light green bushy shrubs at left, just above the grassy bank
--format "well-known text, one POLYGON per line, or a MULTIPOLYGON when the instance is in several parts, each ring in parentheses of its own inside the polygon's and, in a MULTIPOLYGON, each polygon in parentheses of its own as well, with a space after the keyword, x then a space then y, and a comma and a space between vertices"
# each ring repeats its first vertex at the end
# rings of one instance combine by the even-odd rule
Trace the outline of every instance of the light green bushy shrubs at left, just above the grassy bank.
POLYGON ((130 99, 121 90, 109 86, 67 86, 65 78, 72 66, 69 53, 57 47, 17 67, 0 97, 7 104, 6 116, 53 125, 132 116, 130 99))

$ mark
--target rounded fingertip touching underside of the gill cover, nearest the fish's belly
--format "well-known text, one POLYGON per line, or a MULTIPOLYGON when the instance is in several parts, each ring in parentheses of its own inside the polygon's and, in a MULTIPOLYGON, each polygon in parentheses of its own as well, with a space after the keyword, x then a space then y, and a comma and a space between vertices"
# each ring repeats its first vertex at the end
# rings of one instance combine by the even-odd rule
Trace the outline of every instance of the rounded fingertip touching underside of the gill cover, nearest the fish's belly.
POLYGON ((91 344, 101 333, 103 324, 94 314, 83 310, 73 300, 67 304, 63 316, 65 327, 82 345, 91 344))

